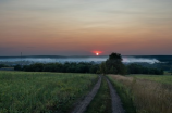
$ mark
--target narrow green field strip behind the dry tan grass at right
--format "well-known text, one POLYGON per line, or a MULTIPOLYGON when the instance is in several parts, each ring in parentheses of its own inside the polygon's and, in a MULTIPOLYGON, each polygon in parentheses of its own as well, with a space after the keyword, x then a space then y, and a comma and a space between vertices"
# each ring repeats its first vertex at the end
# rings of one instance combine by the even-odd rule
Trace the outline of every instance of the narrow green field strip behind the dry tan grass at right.
POLYGON ((130 77, 136 77, 139 79, 149 79, 153 81, 158 81, 161 84, 172 85, 172 76, 171 75, 130 75, 130 77))

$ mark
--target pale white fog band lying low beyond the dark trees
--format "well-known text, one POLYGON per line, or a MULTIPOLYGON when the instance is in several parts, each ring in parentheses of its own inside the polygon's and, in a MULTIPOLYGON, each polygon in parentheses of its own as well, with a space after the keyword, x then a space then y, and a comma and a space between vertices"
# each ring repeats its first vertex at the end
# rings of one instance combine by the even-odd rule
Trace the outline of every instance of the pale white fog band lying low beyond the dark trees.
MULTIPOLYGON (((139 58, 139 56, 122 56, 124 63, 134 62, 145 62, 145 63, 159 63, 160 61, 156 58, 139 58)), ((1 56, 0 62, 41 62, 41 63, 52 63, 52 62, 102 62, 106 61, 108 56, 1 56)))

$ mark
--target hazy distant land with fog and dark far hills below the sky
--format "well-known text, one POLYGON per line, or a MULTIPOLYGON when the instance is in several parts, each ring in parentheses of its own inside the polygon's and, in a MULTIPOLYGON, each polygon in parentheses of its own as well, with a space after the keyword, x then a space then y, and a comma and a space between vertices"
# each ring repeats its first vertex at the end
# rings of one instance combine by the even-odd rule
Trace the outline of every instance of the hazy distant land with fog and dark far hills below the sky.
MULTIPOLYGON (((17 63, 17 62, 29 62, 29 63, 52 63, 52 62, 96 62, 101 63, 106 61, 106 56, 51 56, 51 55, 39 55, 39 56, 0 56, 0 63, 17 63)), ((124 63, 168 63, 172 61, 172 55, 127 55, 122 56, 124 63)))

